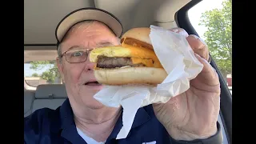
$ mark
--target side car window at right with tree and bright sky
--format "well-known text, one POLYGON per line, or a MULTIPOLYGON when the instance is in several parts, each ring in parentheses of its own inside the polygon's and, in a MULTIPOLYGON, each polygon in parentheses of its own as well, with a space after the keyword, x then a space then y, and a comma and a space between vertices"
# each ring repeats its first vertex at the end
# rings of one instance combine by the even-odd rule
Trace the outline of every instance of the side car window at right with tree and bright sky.
POLYGON ((209 47, 232 95, 232 1, 203 0, 188 11, 191 25, 209 47))

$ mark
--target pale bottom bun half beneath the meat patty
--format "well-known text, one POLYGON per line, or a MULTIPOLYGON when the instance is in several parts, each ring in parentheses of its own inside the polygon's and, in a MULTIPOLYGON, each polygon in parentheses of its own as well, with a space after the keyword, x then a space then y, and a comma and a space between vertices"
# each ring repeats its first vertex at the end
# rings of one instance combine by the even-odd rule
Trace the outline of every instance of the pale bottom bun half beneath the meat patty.
POLYGON ((105 85, 140 85, 156 86, 167 77, 166 70, 154 67, 125 67, 94 70, 99 83, 105 85))

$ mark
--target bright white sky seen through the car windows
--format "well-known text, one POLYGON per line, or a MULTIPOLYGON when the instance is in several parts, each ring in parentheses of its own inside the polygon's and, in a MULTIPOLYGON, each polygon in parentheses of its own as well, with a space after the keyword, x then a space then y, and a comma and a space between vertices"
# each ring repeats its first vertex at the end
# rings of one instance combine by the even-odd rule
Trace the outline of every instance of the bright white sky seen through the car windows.
MULTIPOLYGON (((206 31, 206 27, 204 26, 198 26, 198 23, 200 22, 200 17, 203 12, 206 10, 213 10, 215 8, 220 9, 222 8, 222 2, 224 0, 202 0, 202 2, 199 2, 196 6, 192 7, 189 10, 189 18, 192 26, 194 26, 194 30, 196 30, 199 34, 199 36, 204 39, 203 34, 206 31)), ((42 70, 30 70, 30 64, 24 64, 24 75, 31 76, 34 73, 42 74, 43 71, 46 71, 49 69, 49 67, 46 67, 42 70)))

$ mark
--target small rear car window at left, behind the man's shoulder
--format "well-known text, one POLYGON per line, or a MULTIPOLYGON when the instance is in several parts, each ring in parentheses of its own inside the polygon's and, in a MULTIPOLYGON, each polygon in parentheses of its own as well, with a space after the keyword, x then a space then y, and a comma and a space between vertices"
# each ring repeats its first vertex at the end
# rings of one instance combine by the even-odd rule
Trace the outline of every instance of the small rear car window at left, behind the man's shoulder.
POLYGON ((34 61, 24 63, 24 79, 29 87, 41 84, 61 84, 55 61, 34 61))

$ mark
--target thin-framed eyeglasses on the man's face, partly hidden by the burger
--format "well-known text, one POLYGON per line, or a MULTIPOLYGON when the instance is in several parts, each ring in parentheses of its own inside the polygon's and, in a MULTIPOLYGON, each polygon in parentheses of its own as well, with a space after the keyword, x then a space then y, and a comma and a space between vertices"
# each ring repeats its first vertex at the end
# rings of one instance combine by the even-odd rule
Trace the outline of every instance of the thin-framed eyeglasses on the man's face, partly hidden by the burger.
POLYGON ((82 50, 67 50, 61 55, 61 58, 65 56, 66 61, 70 63, 86 62, 90 49, 82 50))

